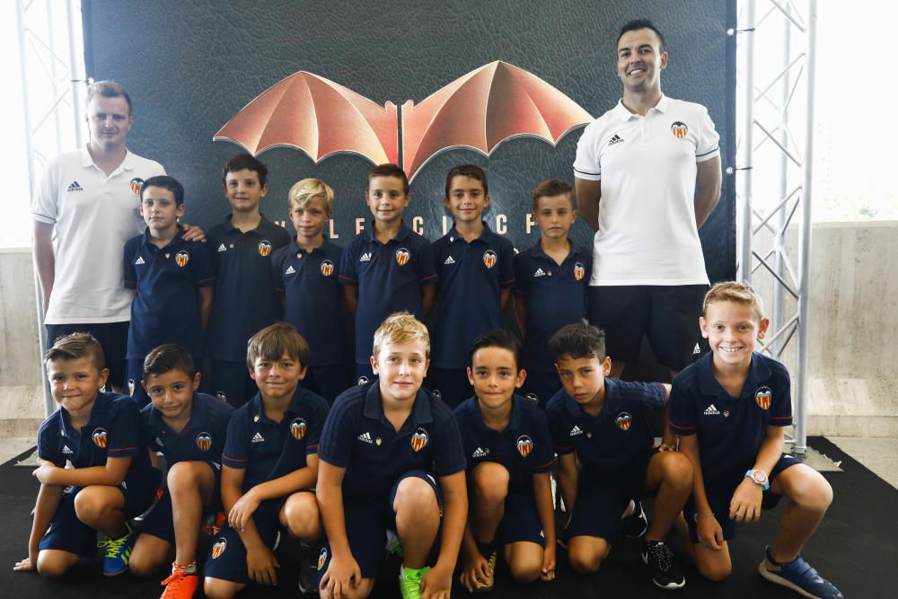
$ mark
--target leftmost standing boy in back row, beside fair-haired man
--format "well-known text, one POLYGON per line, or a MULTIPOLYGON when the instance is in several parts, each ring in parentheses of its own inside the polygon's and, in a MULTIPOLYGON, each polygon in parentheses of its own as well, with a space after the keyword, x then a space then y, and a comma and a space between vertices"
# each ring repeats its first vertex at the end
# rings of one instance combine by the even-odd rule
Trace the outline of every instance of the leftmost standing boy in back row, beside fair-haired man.
POLYGON ((203 330, 212 314, 215 270, 202 243, 184 241, 184 188, 172 177, 151 177, 140 189, 146 231, 125 244, 125 286, 136 289, 128 328, 128 393, 144 407, 144 358, 163 343, 203 357, 203 330))

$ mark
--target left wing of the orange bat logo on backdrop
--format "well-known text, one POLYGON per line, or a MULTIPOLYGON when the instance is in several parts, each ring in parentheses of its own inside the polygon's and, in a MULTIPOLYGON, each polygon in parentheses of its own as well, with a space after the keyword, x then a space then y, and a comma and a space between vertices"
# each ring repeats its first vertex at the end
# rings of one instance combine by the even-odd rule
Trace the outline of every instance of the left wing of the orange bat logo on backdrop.
POLYGON ((399 157, 396 105, 383 107, 334 82, 300 71, 261 92, 234 115, 214 140, 242 145, 251 154, 290 146, 315 163, 348 152, 374 164, 399 157))

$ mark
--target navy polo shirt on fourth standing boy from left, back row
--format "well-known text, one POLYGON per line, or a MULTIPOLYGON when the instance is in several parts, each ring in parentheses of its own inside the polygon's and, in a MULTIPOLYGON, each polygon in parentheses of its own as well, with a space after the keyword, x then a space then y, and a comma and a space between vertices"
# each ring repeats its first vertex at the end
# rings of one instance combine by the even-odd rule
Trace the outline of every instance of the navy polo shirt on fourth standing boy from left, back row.
POLYGON ((406 225, 389 242, 374 236, 374 220, 349 242, 339 262, 339 282, 358 287, 356 362, 367 364, 374 331, 387 316, 408 310, 424 318, 421 286, 436 283, 433 250, 406 225))

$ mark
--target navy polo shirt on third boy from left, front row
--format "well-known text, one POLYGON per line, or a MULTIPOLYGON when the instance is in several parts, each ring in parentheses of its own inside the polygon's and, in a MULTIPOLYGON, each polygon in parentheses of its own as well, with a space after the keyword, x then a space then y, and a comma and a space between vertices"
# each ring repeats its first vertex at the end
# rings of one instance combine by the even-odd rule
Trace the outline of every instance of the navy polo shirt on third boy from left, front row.
POLYGON ((327 401, 296 387, 293 401, 278 423, 265 415, 262 398, 256 393, 231 417, 222 463, 246 471, 244 493, 263 482, 305 468, 308 465, 305 456, 318 450, 327 415, 327 401))

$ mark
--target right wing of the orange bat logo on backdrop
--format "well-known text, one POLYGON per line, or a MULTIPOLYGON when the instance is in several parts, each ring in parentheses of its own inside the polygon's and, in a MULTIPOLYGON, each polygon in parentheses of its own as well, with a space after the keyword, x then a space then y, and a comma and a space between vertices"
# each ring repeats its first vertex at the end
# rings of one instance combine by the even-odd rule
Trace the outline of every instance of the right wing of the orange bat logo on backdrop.
POLYGON ((418 106, 402 106, 402 164, 409 179, 445 149, 489 154, 513 137, 539 137, 556 145, 570 130, 593 120, 577 102, 536 75, 496 61, 459 77, 418 106))

